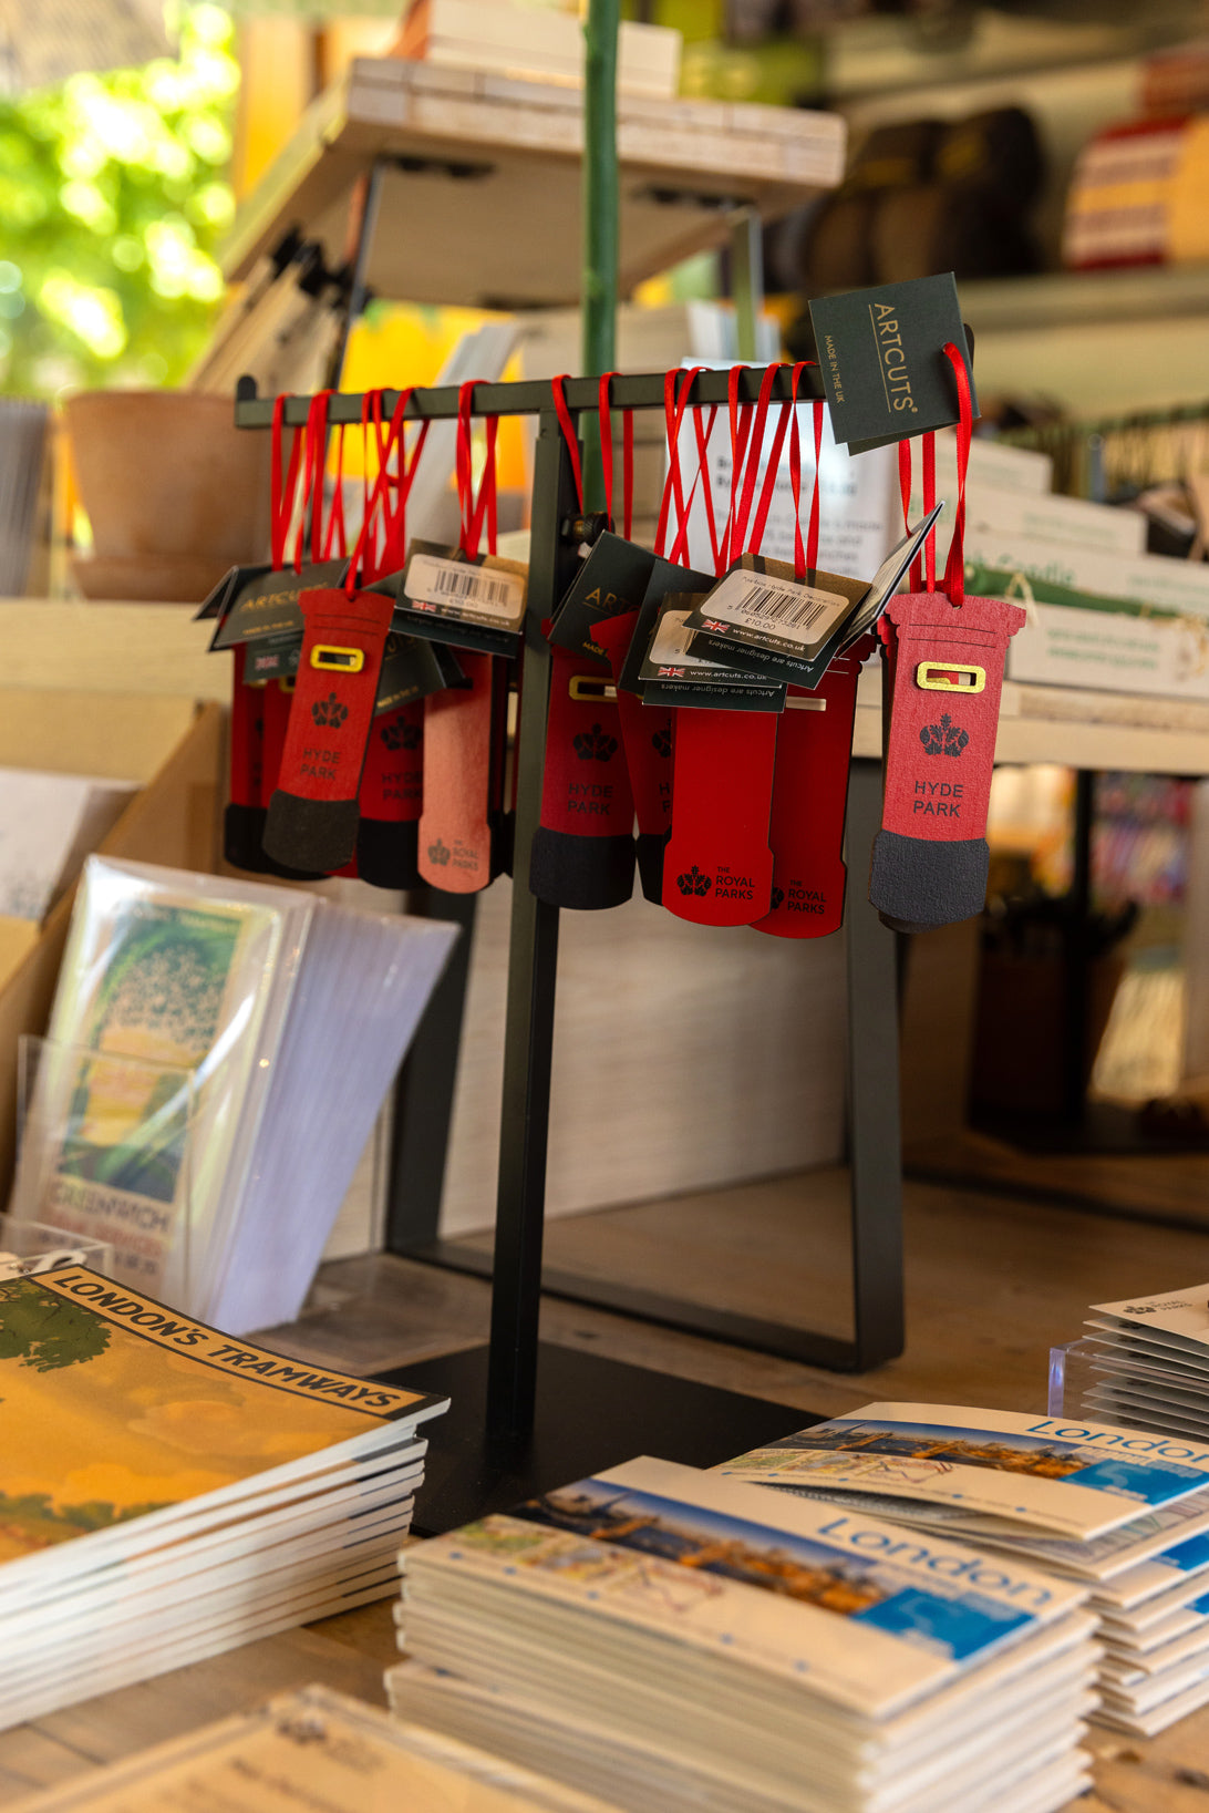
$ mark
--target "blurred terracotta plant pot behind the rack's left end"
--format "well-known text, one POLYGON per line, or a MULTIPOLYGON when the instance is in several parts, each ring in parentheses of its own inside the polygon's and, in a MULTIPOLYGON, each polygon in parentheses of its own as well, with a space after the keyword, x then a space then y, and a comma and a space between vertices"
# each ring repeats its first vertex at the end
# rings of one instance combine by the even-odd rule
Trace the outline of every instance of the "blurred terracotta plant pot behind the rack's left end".
POLYGON ((214 580, 266 558, 268 435, 230 397, 83 390, 65 404, 80 499, 102 558, 203 558, 214 580))

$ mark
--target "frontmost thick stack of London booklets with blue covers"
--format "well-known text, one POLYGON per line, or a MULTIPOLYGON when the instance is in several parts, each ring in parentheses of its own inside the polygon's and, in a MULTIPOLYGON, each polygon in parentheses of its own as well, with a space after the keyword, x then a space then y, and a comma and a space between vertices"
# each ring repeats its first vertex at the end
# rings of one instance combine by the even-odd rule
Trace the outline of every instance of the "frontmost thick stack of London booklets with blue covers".
POLYGON ((1048 1813, 1082 1586, 638 1459, 404 1556, 392 1708, 629 1813, 1048 1813))

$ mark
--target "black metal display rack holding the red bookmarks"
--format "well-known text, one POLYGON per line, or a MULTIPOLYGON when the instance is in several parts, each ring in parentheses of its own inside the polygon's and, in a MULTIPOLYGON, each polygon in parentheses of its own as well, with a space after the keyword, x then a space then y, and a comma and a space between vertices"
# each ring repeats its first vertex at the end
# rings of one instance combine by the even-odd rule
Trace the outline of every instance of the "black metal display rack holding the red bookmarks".
MULTIPOLYGON (((759 368, 740 373, 743 402, 756 402, 761 377, 759 368)), ((691 406, 725 408, 727 381, 727 372, 700 372, 689 392, 691 406)), ((817 368, 808 368, 801 373, 798 397, 810 401, 821 393, 821 373, 817 368)), ((397 395, 397 392, 382 395, 386 415, 393 412, 397 395)), ((573 417, 595 413, 598 381, 569 379, 564 395, 573 417)), ((772 401, 790 402, 790 368, 785 366, 776 377, 772 401)), ((614 410, 663 408, 663 373, 614 377, 611 401, 614 410)), ((308 397, 292 397, 285 404, 285 422, 301 428, 308 406, 308 397)), ((359 424, 361 412, 361 395, 332 395, 328 426, 359 424)), ((272 413, 272 399, 259 397, 252 379, 241 379, 236 393, 236 424, 268 428, 272 413)), ((457 386, 413 390, 406 406, 408 421, 451 419, 457 413, 457 386)), ((589 1356, 573 1349, 540 1351, 538 1313, 544 1289, 580 1304, 832 1371, 859 1372, 881 1365, 901 1354, 904 1340, 895 941, 866 903, 861 887, 866 852, 881 812, 879 765, 874 761, 854 763, 846 825, 854 870, 845 921, 852 1338, 843 1340, 790 1323, 712 1309, 620 1282, 542 1271, 558 908, 538 901, 529 892, 526 877, 529 847, 542 809, 551 671, 551 651, 540 624, 553 615, 575 575, 580 538, 575 522, 580 506, 549 383, 477 384, 471 413, 537 415, 538 435, 524 625, 524 689, 517 723, 513 861, 517 879, 508 952, 493 1256, 459 1242, 440 1240, 437 1231, 473 932, 473 897, 437 892, 413 896, 413 910, 419 906, 433 916, 459 919, 464 937, 421 1024, 402 1077, 392 1164, 390 1249, 413 1260, 489 1276, 493 1285, 491 1333, 486 1349, 392 1374, 397 1382, 424 1389, 451 1387, 455 1392, 457 1452, 446 1450, 442 1478, 430 1467, 431 1478, 422 1507, 426 1528, 451 1528, 482 1510, 513 1503, 524 1490, 542 1490, 573 1478, 573 1456, 580 1449, 584 1429, 596 1432, 589 1458, 596 1467, 643 1450, 703 1465, 810 1421, 801 1411, 785 1405, 734 1392, 712 1392, 634 1367, 596 1360, 593 1369, 589 1356), (611 1430, 607 1441, 605 1427, 611 1430), (614 1452, 609 1452, 609 1447, 614 1452)))

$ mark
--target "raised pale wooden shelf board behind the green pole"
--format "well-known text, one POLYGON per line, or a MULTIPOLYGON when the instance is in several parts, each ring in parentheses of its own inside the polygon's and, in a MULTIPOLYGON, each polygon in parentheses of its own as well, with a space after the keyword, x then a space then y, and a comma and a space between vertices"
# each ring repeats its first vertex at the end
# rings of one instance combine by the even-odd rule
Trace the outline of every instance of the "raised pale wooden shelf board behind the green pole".
MULTIPOLYGON (((736 207, 776 219, 843 176, 827 112, 618 96, 622 292, 720 245, 736 207)), ((323 94, 236 216, 225 272, 247 277, 290 227, 346 256, 348 207, 382 183, 368 281, 379 296, 480 308, 566 305, 580 290, 576 87, 359 58, 323 94)))

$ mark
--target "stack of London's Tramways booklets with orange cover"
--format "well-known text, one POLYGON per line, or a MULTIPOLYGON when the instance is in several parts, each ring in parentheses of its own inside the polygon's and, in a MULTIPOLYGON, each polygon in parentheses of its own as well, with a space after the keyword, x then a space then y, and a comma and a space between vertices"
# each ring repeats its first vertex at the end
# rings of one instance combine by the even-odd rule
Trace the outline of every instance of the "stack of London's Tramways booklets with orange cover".
POLYGON ((444 1409, 82 1265, 0 1282, 0 1728, 393 1592, 444 1409))

